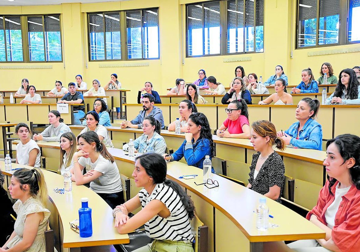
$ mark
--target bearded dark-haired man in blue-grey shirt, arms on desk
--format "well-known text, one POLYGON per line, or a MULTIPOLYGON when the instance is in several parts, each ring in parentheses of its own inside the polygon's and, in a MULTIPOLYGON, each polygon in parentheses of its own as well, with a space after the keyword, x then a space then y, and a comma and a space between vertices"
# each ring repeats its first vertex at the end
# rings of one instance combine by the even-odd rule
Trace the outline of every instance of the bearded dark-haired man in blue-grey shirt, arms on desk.
POLYGON ((162 116, 162 110, 154 106, 155 98, 151 94, 144 94, 143 96, 143 111, 140 111, 138 116, 135 117, 132 121, 125 121, 121 123, 121 128, 125 129, 127 127, 142 129, 143 120, 147 116, 153 116, 160 124, 161 129, 165 128, 164 117, 162 116))

